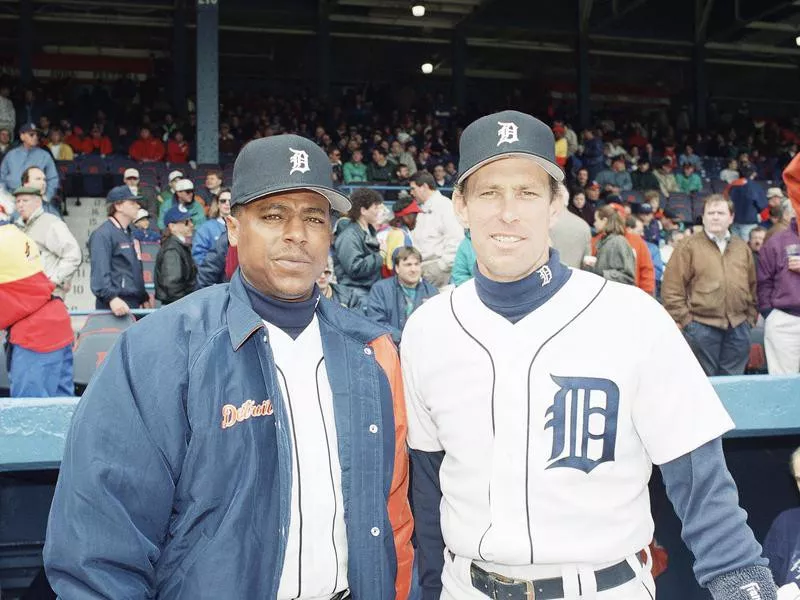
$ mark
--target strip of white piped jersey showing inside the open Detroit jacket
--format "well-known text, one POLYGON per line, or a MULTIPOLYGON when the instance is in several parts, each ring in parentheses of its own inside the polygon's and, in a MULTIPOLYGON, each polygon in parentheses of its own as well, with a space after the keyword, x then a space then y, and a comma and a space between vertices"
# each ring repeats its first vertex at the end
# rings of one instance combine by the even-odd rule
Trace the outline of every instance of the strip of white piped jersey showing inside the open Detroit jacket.
POLYGON ((292 437, 292 506, 278 600, 327 600, 347 589, 342 468, 316 315, 292 339, 264 322, 292 437))

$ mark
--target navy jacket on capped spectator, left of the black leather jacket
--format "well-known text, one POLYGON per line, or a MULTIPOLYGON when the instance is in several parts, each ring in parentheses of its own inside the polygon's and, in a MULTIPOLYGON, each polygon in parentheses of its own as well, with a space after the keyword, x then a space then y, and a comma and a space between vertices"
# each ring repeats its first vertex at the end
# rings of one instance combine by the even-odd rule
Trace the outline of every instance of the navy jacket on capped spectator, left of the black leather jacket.
POLYGON ((115 297, 134 305, 147 300, 139 240, 130 228, 123 229, 113 218, 106 219, 89 236, 89 255, 91 288, 98 308, 108 306, 115 297))

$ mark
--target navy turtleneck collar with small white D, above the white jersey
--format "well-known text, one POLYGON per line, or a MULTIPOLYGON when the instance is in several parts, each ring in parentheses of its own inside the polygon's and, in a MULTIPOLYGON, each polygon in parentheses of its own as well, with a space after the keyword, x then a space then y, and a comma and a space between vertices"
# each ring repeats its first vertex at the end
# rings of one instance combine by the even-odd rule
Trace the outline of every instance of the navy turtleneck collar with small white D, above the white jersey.
POLYGON ((558 251, 551 248, 547 264, 518 281, 492 281, 476 265, 475 291, 487 307, 516 323, 547 302, 570 275, 572 272, 561 264, 558 251))

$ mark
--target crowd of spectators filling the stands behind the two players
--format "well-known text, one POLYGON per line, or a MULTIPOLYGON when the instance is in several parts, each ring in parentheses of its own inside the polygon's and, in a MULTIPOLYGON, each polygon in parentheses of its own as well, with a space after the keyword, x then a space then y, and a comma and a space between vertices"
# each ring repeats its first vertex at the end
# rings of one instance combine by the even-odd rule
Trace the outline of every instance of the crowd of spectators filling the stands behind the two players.
MULTIPOLYGON (((126 163, 122 185, 108 191, 108 220, 89 239, 97 309, 123 315, 230 278, 237 264, 223 235, 230 171, 197 168, 191 100, 181 119, 163 90, 130 81, 71 96, 57 86, 26 89, 16 103, 10 90, 0 84, 5 212, 37 243, 56 297, 69 292, 80 264, 59 219, 60 166, 87 157, 136 165, 126 163), (145 172, 156 176, 143 181, 145 172), (143 243, 160 244, 152 295, 143 243)), ((357 93, 332 108, 303 95, 225 100, 221 167, 251 140, 297 133, 325 149, 333 183, 350 193, 353 208, 336 223, 330 265, 320 274, 324 295, 387 326, 399 343, 416 307, 472 277, 469 232, 448 197, 463 116, 441 99, 406 112, 357 93)), ((759 315, 767 319, 769 372, 800 371, 800 240, 780 185, 782 173, 791 177, 784 170, 797 153, 798 122, 765 121, 743 107, 695 132, 685 111, 670 119, 654 110, 599 115, 577 131, 564 109, 549 110, 567 173, 559 200, 566 210, 552 229, 562 261, 658 297, 709 375, 745 370, 759 315)), ((16 393, 55 389, 42 385, 16 393)))

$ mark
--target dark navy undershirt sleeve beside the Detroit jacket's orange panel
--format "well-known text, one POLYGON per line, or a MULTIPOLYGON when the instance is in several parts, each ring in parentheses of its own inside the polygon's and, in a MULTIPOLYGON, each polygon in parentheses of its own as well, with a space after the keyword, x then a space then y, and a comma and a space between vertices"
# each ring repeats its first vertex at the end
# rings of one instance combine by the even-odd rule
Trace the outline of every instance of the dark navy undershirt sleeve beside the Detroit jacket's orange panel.
POLYGON ((411 510, 417 537, 417 567, 422 600, 439 600, 442 593, 444 539, 440 524, 442 488, 439 469, 444 452, 409 450, 411 459, 411 510))

